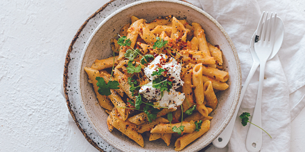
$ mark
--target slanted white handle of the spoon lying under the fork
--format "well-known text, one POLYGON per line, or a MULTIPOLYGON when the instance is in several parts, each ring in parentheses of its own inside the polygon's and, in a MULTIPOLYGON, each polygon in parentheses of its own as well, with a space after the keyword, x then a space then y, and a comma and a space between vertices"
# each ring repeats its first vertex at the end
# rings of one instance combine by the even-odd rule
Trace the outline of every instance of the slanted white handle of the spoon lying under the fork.
POLYGON ((225 128, 225 130, 223 130, 223 132, 220 133, 220 135, 218 137, 216 137, 216 139, 213 141, 213 145, 219 149, 223 149, 230 140, 239 106, 241 106, 241 102, 243 101, 243 96, 245 95, 245 91, 247 91, 247 86, 250 84, 250 81, 251 81, 257 67, 259 67, 259 62, 253 62, 250 73, 247 76, 247 79, 245 80, 245 84, 243 85, 243 88, 241 89, 241 96, 239 97, 238 104, 237 104, 235 113, 234 113, 231 121, 229 122, 229 124, 227 124, 227 127, 225 128))

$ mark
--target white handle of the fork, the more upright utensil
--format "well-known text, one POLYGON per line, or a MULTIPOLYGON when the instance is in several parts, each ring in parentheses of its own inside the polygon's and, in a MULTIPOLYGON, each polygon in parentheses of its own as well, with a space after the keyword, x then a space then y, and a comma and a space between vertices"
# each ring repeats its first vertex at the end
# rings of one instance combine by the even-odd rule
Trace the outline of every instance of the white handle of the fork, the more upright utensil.
MULTIPOLYGON (((263 95, 263 79, 265 75, 265 62, 261 61, 261 66, 259 68, 259 90, 257 92, 256 104, 254 112, 252 114, 251 122, 261 127, 261 98, 263 95)), ((262 130, 259 127, 250 124, 247 139, 245 142, 246 148, 250 152, 260 151, 263 141, 262 130)))

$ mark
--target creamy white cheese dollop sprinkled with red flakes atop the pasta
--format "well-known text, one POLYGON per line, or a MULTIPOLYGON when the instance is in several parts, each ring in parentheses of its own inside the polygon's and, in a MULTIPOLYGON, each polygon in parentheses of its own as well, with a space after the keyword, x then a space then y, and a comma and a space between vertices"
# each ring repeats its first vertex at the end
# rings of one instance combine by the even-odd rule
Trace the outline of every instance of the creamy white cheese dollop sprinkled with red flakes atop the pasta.
POLYGON ((143 95, 148 100, 155 99, 157 104, 162 107, 175 108, 175 106, 180 106, 184 101, 184 93, 175 91, 176 88, 183 86, 184 82, 180 78, 181 65, 173 57, 168 57, 167 55, 160 54, 155 59, 144 68, 145 75, 151 80, 146 86, 141 86, 139 93, 143 95), (158 68, 163 68, 166 70, 166 77, 173 80, 173 88, 170 89, 169 93, 164 91, 164 95, 161 98, 161 91, 157 88, 153 88, 153 80, 158 76, 152 76, 153 71, 157 71, 158 68))

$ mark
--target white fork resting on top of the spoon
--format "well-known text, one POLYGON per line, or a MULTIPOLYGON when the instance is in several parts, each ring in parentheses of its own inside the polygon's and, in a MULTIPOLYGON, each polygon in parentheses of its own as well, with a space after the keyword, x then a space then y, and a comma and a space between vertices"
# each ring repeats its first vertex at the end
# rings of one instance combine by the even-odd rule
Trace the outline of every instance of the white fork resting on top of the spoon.
MULTIPOLYGON (((261 17, 261 21, 259 21, 259 27, 256 31, 256 36, 259 37, 259 41, 254 44, 256 55, 259 57, 260 68, 259 68, 259 89, 256 97, 256 104, 254 108, 254 112, 252 114, 251 122, 261 127, 261 98, 263 94, 263 79, 265 75, 265 64, 272 53, 273 46, 275 44, 275 23, 277 19, 277 13, 275 13, 275 17, 272 17, 272 13, 270 15, 270 19, 268 20, 268 12, 263 12, 261 17), (265 15, 265 17, 264 17, 265 15), (263 18, 265 18, 265 22, 263 23, 263 18)), ((246 147, 248 151, 260 151, 262 146, 262 130, 259 127, 250 124, 246 147)))

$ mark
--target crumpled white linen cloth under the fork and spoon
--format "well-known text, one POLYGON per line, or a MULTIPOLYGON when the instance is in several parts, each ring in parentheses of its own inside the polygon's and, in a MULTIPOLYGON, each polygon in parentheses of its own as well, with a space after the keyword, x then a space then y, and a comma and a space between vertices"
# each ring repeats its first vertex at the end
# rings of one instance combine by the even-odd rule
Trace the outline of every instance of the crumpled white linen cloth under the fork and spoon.
MULTIPOLYGON (((272 139, 263 132, 261 151, 290 151, 290 121, 305 106, 305 17, 295 11, 289 1, 263 0, 187 0, 202 8, 225 28, 231 37, 239 59, 243 83, 252 66, 250 39, 256 30, 261 12, 277 12, 284 21, 284 41, 272 60, 265 67, 262 100, 262 128, 268 131, 272 139)), ((225 50, 223 50, 225 51, 225 50)), ((256 75, 259 75, 259 68, 256 75)), ((255 76, 254 76, 255 77, 255 76)), ((253 79, 245 93, 238 116, 243 112, 252 115, 256 102, 258 77, 253 79)), ((251 117, 250 117, 251 120, 251 117)), ((228 151, 247 151, 245 140, 247 126, 242 126, 236 118, 228 151)), ((221 151, 211 147, 210 151, 221 151), (211 150, 212 149, 212 150, 211 150)))

